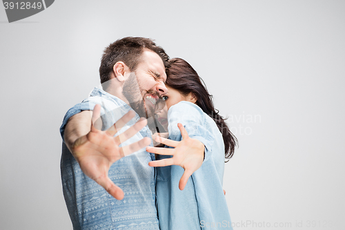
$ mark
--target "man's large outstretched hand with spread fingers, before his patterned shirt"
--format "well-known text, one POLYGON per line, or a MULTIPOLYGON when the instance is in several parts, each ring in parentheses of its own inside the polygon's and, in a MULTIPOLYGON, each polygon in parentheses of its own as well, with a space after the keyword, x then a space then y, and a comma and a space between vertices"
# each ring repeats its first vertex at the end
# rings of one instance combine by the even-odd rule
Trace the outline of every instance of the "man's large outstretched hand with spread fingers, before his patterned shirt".
POLYGON ((101 106, 96 105, 92 113, 91 130, 88 134, 75 140, 72 145, 72 154, 79 163, 83 173, 95 180, 115 199, 122 200, 124 198, 124 191, 108 178, 108 171, 110 166, 121 157, 134 153, 151 143, 150 138, 145 137, 138 142, 119 147, 121 143, 135 135, 141 128, 144 128, 147 122, 146 119, 141 118, 124 133, 114 137, 117 131, 135 117, 135 113, 129 111, 107 131, 100 131, 94 126, 97 119, 99 119, 100 112, 101 106))

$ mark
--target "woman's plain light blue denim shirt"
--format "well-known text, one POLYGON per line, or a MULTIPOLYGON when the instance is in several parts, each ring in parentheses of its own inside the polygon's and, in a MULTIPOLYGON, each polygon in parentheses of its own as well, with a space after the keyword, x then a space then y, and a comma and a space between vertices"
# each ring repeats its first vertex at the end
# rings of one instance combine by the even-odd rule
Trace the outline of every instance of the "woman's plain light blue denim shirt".
MULTIPOLYGON (((233 229, 223 193, 224 142, 211 117, 199 106, 179 102, 168 111, 169 139, 180 141, 181 123, 189 137, 205 145, 205 160, 183 191, 181 166, 157 167, 157 209, 161 230, 233 229)), ((161 156, 164 158, 164 156, 161 156)))

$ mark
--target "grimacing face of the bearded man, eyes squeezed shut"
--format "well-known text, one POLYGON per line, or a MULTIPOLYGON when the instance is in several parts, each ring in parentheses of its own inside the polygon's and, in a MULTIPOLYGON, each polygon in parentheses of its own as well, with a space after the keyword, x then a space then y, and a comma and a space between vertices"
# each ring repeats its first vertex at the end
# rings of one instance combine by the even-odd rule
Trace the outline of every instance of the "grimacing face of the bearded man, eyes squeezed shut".
POLYGON ((157 53, 145 50, 134 73, 124 83, 123 94, 140 117, 152 117, 157 102, 168 92, 164 63, 157 53))

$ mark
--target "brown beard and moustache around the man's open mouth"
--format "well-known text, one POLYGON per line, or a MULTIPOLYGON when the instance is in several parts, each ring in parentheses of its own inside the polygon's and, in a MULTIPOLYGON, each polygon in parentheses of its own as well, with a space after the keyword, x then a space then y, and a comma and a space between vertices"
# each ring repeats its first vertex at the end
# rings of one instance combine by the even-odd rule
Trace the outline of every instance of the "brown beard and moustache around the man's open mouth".
POLYGON ((130 104, 130 107, 139 115, 139 117, 146 117, 146 119, 148 119, 148 127, 150 128, 152 133, 155 133, 155 110, 157 106, 161 104, 162 99, 159 94, 154 93, 152 90, 149 90, 146 93, 144 92, 145 90, 141 90, 135 73, 130 73, 130 76, 124 83, 122 94, 124 95, 124 97, 126 97, 128 103, 130 104), (144 100, 147 94, 157 95, 157 97, 159 97, 157 103, 155 103, 155 106, 145 106, 146 104, 144 100))

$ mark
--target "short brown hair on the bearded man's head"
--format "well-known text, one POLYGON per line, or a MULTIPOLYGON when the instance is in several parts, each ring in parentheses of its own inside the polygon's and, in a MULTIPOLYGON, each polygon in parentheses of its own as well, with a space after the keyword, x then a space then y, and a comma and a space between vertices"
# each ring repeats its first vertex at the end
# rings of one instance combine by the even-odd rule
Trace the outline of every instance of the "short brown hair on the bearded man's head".
POLYGON ((117 61, 124 61, 130 71, 135 71, 141 61, 141 54, 145 49, 157 53, 163 60, 166 71, 169 67, 169 56, 163 48, 157 46, 152 39, 145 37, 124 37, 110 44, 103 52, 101 66, 99 67, 99 76, 101 84, 110 80, 110 73, 117 61))

